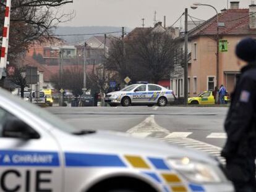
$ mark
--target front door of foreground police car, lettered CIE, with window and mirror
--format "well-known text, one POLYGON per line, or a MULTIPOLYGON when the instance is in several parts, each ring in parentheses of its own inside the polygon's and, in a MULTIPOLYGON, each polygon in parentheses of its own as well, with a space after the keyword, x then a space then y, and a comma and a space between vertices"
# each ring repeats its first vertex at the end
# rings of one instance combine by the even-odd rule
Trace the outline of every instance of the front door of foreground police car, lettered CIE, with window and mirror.
POLYGON ((56 141, 27 119, 0 106, 0 191, 64 191, 56 141))

